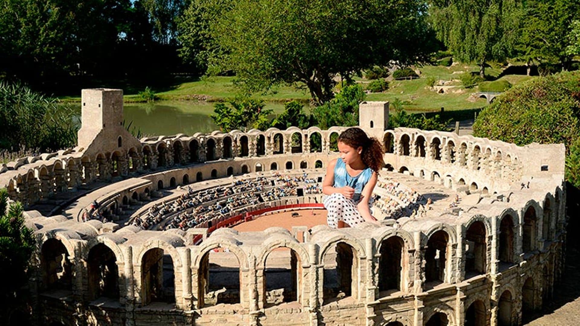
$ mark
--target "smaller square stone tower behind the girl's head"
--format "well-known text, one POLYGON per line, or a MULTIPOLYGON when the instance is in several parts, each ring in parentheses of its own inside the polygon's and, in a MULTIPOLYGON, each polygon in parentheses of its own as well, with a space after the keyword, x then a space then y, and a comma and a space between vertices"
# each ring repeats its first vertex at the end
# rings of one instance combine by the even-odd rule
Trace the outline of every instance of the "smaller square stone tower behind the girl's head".
POLYGON ((389 127, 389 102, 361 102, 358 104, 358 125, 369 137, 383 139, 389 127))

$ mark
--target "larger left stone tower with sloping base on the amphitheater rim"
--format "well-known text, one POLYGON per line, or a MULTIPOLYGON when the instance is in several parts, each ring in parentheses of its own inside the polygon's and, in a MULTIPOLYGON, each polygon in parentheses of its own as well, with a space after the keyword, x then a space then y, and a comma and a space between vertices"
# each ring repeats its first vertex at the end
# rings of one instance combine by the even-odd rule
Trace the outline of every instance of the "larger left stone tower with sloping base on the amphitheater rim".
POLYGON ((140 142, 123 126, 123 90, 93 88, 82 90, 82 126, 78 146, 95 153, 136 147, 140 142))

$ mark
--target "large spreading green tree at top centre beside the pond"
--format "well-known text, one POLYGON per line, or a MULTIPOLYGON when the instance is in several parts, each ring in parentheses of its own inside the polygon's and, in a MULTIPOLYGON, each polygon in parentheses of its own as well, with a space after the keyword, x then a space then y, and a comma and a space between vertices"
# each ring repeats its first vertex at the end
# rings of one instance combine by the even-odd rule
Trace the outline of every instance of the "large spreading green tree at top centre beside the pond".
POLYGON ((418 0, 194 0, 181 53, 207 56, 209 73, 233 71, 249 92, 297 85, 321 104, 338 74, 426 57, 425 13, 418 0))

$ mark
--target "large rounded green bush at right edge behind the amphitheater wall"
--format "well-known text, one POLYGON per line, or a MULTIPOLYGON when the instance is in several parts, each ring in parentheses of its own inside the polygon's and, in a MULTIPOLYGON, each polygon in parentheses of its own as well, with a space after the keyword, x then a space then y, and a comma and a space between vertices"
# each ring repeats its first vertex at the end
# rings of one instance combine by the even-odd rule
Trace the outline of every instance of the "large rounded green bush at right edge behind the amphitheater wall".
POLYGON ((580 137, 580 72, 539 77, 507 90, 477 116, 473 134, 520 146, 564 143, 567 179, 580 186, 580 160, 575 160, 580 137))

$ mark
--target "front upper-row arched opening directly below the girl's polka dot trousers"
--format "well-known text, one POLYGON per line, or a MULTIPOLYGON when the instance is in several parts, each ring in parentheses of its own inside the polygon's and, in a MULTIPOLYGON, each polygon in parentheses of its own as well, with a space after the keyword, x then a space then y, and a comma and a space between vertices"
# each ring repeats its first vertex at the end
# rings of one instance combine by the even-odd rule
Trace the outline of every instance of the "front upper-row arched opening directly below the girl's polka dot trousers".
POLYGON ((328 249, 322 262, 323 302, 333 302, 353 295, 358 283, 358 259, 354 248, 346 242, 338 242, 328 249))

